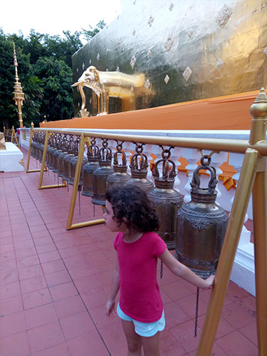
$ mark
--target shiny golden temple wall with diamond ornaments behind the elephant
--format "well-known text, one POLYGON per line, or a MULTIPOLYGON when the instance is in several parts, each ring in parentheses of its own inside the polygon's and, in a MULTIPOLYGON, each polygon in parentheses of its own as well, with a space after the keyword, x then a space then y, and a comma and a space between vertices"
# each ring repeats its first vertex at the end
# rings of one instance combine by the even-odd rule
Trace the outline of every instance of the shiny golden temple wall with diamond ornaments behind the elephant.
MULTIPOLYGON (((266 19, 266 0, 122 0, 120 16, 73 55, 73 83, 88 66, 142 74, 142 90, 110 97, 109 112, 258 90, 267 79, 266 19)), ((96 115, 97 95, 84 91, 96 115)))

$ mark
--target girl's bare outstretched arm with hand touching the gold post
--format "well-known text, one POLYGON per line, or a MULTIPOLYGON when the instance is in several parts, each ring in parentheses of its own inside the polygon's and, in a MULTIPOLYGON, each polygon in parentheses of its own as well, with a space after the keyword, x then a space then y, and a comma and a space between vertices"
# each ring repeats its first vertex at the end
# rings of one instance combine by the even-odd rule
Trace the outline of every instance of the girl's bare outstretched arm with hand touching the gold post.
POLYGON ((214 275, 209 276, 206 280, 197 276, 196 273, 191 271, 187 266, 184 266, 181 262, 177 261, 172 253, 170 253, 167 249, 159 256, 161 261, 169 268, 169 271, 172 271, 176 276, 182 277, 185 281, 192 283, 194 286, 207 289, 211 288, 214 283, 214 275))

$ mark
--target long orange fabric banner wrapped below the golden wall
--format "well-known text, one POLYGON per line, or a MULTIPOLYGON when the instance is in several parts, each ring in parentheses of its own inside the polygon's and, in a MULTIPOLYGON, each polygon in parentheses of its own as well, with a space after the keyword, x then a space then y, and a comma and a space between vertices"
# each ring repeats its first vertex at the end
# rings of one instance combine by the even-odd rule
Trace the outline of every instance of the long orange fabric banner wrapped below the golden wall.
POLYGON ((40 127, 117 130, 250 130, 259 90, 144 110, 41 122, 40 127))

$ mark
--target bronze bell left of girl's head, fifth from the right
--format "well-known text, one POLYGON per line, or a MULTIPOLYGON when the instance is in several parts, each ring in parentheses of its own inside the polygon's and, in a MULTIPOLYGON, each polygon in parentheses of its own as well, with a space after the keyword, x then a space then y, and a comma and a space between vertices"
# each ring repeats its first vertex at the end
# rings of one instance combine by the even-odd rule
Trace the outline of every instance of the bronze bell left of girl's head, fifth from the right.
POLYGON ((99 167, 93 172, 93 197, 92 203, 105 205, 105 192, 107 190, 107 178, 112 174, 112 152, 108 147, 108 140, 103 139, 103 147, 98 152, 99 167))

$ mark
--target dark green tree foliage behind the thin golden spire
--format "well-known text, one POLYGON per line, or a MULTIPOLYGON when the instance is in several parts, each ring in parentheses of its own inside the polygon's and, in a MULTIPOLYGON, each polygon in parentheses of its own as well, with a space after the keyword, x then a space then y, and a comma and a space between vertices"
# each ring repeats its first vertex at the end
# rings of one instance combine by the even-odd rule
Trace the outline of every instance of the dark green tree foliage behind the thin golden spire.
POLYGON ((105 22, 99 21, 90 30, 63 31, 63 37, 31 30, 5 34, 0 28, 0 130, 3 126, 19 127, 18 110, 13 100, 15 68, 14 43, 19 64, 19 81, 25 94, 23 124, 33 121, 38 126, 47 120, 69 119, 73 115, 71 56, 83 46, 80 36, 90 40, 105 22))

